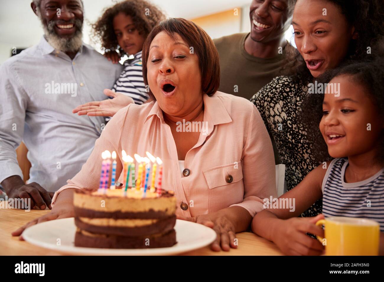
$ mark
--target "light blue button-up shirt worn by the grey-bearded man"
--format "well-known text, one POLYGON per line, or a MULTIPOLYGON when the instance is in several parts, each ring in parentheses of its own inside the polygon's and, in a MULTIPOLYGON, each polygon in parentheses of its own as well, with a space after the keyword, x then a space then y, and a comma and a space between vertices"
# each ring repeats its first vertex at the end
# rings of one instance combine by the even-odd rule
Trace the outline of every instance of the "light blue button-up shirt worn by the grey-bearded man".
POLYGON ((29 182, 56 191, 76 175, 105 120, 72 110, 106 99, 103 90, 113 87, 122 68, 84 43, 71 60, 44 37, 7 59, 0 66, 0 183, 23 178, 15 153, 22 140, 32 164, 29 182))

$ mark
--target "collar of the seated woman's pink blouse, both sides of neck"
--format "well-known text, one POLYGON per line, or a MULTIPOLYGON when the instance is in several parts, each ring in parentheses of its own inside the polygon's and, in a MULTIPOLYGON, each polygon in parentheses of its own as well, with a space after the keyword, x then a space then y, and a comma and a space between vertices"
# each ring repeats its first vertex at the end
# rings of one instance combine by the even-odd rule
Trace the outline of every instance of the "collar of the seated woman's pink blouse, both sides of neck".
MULTIPOLYGON (((232 122, 232 119, 230 115, 228 114, 227 109, 225 108, 223 102, 219 97, 217 97, 217 94, 220 94, 222 92, 215 92, 213 96, 208 96, 207 94, 203 95, 203 102, 204 102, 204 121, 207 121, 212 125, 218 125, 218 124, 226 124, 229 122, 232 122)), ((157 101, 154 103, 152 109, 149 111, 146 120, 144 123, 151 117, 152 115, 157 115, 157 117, 161 120, 162 123, 164 123, 164 117, 163 112, 161 108, 159 107, 159 103, 157 101)), ((213 126, 209 126, 211 130, 209 130, 208 135, 213 130, 213 126)))

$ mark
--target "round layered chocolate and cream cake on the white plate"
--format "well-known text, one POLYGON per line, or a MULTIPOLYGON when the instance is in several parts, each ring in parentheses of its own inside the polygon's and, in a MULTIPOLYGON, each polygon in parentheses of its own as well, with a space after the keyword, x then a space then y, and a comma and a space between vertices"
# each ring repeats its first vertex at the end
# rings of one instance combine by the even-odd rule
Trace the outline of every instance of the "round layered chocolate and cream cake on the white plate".
POLYGON ((173 193, 136 189, 76 190, 77 247, 145 249, 176 244, 173 193))

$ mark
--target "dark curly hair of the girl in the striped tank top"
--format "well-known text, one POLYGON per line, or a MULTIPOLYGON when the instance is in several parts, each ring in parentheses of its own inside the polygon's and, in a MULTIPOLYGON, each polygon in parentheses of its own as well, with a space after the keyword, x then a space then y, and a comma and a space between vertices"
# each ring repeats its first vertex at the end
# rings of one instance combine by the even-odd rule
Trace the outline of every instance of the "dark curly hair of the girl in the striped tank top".
MULTIPOLYGON (((377 106, 384 123, 384 57, 375 56, 372 59, 362 61, 344 61, 338 68, 330 69, 319 76, 319 83, 328 83, 336 76, 352 76, 354 81, 361 84, 367 90, 370 98, 377 106)), ((319 130, 319 123, 323 117, 324 94, 307 94, 299 113, 300 121, 306 127, 308 140, 311 143, 313 156, 317 160, 329 160, 328 147, 319 130)), ((384 148, 384 130, 380 135, 380 146, 384 148)), ((346 156, 347 157, 347 156, 346 156)), ((379 162, 384 163, 384 150, 377 154, 379 162)))

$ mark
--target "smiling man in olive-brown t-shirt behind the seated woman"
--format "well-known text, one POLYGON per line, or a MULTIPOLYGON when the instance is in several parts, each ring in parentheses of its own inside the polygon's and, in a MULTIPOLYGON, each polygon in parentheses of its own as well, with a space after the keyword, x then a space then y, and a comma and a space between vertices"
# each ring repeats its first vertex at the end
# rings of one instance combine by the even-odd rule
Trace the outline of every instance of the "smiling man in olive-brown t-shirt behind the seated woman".
POLYGON ((279 75, 287 48, 285 39, 293 0, 253 0, 251 31, 214 40, 220 55, 219 91, 250 99, 279 75))

